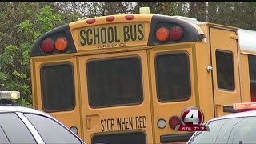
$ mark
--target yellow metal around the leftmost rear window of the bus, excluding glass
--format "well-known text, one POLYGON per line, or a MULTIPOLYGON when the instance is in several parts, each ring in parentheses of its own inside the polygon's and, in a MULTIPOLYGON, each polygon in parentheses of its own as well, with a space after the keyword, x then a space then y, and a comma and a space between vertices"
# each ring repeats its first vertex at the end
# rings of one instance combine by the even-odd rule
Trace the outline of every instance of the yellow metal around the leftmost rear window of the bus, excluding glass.
MULTIPOLYGON (((79 91, 78 91, 78 71, 77 71, 77 66, 76 66, 76 58, 71 57, 70 55, 66 56, 48 56, 48 57, 43 57, 43 58, 32 58, 31 63, 33 68, 31 69, 34 71, 35 75, 33 78, 34 81, 34 107, 37 110, 42 110, 44 112, 47 112, 54 118, 57 118, 60 122, 62 122, 65 126, 70 128, 71 126, 75 126, 78 128, 78 136, 82 136, 82 121, 79 118, 80 117, 80 98, 79 96, 79 91), (74 70, 74 108, 72 110, 66 110, 66 111, 56 111, 56 112, 49 112, 44 110, 43 108, 43 97, 42 97, 42 78, 41 78, 41 69, 42 66, 55 66, 55 65, 60 65, 60 64, 65 64, 65 63, 70 63, 73 66, 74 70), (35 97, 36 96, 36 97, 35 97)), ((50 77, 50 75, 49 75, 50 77)), ((53 85, 62 85, 61 83, 52 83, 53 85)), ((50 97, 50 96, 49 96, 50 97)))

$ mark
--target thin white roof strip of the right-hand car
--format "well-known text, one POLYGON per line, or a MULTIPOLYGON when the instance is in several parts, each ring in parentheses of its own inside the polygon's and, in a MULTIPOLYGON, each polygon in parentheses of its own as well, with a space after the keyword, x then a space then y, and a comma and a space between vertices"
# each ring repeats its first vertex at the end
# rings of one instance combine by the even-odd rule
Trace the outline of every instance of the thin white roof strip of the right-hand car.
MULTIPOLYGON (((256 110, 249 110, 249 111, 239 112, 239 113, 235 113, 235 114, 228 114, 228 115, 224 115, 222 117, 211 119, 210 121, 226 119, 226 118, 240 118, 240 117, 256 117, 256 110)), ((210 122, 210 121, 208 121, 208 122, 210 122)))

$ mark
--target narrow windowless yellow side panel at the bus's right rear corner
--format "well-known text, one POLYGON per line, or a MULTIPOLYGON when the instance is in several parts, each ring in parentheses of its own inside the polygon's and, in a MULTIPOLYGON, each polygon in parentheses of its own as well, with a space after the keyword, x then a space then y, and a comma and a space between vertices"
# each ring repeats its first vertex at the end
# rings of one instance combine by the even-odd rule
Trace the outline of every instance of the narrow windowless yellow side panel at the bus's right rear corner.
POLYGON ((214 95, 212 86, 212 71, 208 71, 207 67, 211 66, 210 46, 208 43, 195 43, 193 46, 194 53, 194 73, 195 86, 198 85, 198 101, 197 106, 204 114, 204 122, 214 118, 214 95))

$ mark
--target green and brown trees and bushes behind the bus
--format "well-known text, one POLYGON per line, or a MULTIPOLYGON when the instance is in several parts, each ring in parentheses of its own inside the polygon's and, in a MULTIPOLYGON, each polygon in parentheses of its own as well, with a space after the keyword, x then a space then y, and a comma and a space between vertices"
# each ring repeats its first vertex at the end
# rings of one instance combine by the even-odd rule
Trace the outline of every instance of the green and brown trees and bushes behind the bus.
POLYGON ((181 15, 256 30, 256 2, 0 2, 0 90, 18 90, 18 103, 32 106, 30 50, 48 30, 110 14, 181 15))

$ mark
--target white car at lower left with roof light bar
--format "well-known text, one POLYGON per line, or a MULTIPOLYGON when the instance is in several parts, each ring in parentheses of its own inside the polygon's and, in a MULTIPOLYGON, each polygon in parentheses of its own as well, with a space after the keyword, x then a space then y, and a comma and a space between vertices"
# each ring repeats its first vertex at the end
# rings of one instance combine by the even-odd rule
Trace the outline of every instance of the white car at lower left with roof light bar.
MULTIPOLYGON (((1 94, 0 99, 6 97, 6 94, 1 94)), ((0 143, 84 142, 49 114, 26 107, 0 104, 0 143)))

